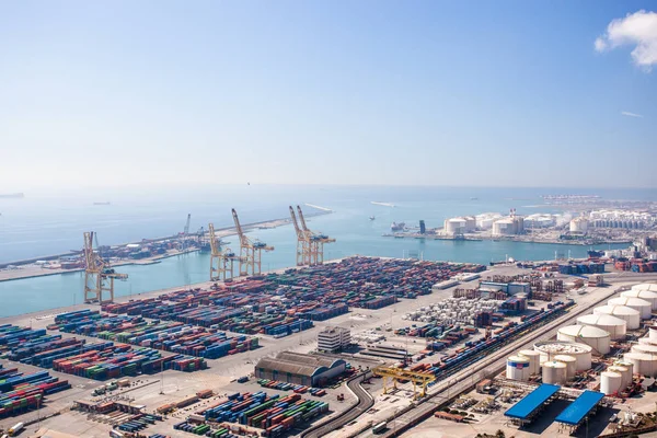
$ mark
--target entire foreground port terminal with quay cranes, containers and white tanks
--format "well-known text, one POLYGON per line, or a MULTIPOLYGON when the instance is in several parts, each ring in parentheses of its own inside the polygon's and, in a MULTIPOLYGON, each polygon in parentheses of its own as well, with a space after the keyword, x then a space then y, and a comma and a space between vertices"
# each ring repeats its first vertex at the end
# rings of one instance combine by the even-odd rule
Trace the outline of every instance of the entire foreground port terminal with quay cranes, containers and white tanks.
POLYGON ((323 246, 335 240, 291 206, 296 266, 262 274, 275 249, 246 238, 233 218, 234 251, 208 227, 207 283, 137 299, 115 299, 113 281, 129 278, 85 233, 85 302, 0 320, 2 431, 417 437, 464 436, 464 423, 472 436, 657 430, 657 274, 600 256, 325 262, 323 246))

